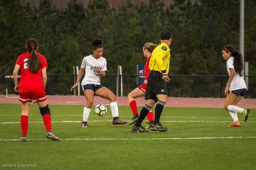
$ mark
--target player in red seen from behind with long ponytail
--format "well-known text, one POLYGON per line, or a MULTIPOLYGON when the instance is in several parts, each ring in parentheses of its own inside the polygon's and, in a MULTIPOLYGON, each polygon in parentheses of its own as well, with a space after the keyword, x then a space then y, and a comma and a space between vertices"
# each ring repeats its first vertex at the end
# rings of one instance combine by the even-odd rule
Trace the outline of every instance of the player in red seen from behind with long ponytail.
POLYGON ((53 135, 50 120, 50 108, 46 98, 47 74, 46 57, 36 52, 38 42, 36 39, 29 39, 26 42, 27 52, 18 56, 14 67, 14 91, 19 93, 21 101, 21 141, 26 142, 28 132, 28 113, 30 102, 37 103, 46 126, 46 137, 50 140, 59 140, 53 135), (18 71, 21 69, 21 80, 18 84, 18 71))

